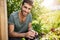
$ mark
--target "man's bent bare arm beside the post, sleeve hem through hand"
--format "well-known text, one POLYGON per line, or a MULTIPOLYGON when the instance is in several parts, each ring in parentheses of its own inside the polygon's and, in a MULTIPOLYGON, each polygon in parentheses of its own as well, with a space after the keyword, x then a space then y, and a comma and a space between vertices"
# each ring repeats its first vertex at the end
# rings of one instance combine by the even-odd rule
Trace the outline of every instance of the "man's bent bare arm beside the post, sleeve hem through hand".
POLYGON ((14 25, 10 24, 9 25, 9 37, 27 37, 27 38, 33 39, 32 37, 34 37, 34 35, 31 31, 27 33, 14 32, 14 25))

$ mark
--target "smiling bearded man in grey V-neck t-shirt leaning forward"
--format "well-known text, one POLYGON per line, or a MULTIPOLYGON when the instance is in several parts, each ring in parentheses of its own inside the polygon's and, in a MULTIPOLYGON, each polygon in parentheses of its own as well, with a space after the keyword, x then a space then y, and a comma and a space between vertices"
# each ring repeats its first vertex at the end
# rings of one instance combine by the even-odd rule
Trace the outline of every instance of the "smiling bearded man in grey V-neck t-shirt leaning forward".
POLYGON ((23 37, 28 40, 27 38, 35 37, 36 32, 31 31, 32 15, 30 11, 32 6, 32 0, 23 0, 21 10, 10 15, 8 20, 9 40, 22 40, 23 37))

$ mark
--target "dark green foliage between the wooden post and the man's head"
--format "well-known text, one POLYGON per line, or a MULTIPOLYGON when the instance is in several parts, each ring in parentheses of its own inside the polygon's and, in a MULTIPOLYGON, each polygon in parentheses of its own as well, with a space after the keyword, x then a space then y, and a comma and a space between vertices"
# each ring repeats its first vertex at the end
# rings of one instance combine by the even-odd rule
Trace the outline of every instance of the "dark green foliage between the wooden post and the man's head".
POLYGON ((20 5, 22 3, 22 0, 7 0, 7 11, 8 11, 8 16, 14 12, 18 11, 20 8, 20 5))

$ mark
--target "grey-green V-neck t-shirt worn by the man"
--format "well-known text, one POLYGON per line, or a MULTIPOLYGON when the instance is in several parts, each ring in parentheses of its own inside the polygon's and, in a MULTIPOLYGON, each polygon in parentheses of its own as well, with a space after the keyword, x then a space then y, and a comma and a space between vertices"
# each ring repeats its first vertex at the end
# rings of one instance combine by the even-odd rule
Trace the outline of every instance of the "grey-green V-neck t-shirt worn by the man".
MULTIPOLYGON (((28 24, 32 22, 32 15, 29 13, 26 17, 25 22, 21 23, 18 17, 18 11, 10 15, 8 19, 8 24, 14 24, 14 31, 18 33, 25 33, 28 31, 28 24)), ((21 38, 9 37, 9 40, 22 40, 21 38)))

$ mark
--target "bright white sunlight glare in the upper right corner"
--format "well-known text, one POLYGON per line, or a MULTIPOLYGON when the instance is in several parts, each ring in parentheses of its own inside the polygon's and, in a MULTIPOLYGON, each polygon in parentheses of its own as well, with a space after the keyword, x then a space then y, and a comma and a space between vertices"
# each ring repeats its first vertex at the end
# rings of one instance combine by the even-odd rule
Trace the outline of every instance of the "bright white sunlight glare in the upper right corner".
POLYGON ((46 8, 51 10, 60 10, 60 3, 58 3, 57 0, 44 0, 41 6, 45 6, 46 8))

